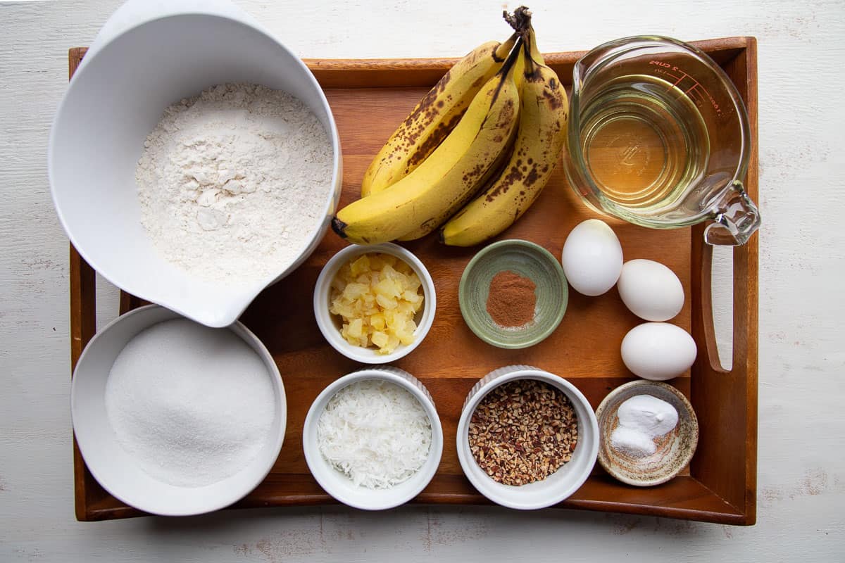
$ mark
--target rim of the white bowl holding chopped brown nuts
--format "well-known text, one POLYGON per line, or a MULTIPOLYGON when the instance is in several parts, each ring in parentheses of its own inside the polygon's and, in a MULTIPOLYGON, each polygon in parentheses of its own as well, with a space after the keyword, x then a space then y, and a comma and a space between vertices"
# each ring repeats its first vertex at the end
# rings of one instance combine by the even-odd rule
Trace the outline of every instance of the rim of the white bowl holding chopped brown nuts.
MULTIPOLYGON (((573 406, 575 406, 575 404, 573 404, 573 406)), ((581 419, 581 415, 579 414, 578 416, 579 419, 581 419)), ((455 442, 458 452, 458 461, 461 463, 461 469, 463 470, 464 475, 466 475, 466 479, 469 479, 472 486, 475 487, 478 492, 486 496, 488 500, 501 506, 515 508, 517 510, 537 510, 565 501, 571 495, 575 494, 575 492, 581 488, 581 485, 584 485, 586 479, 590 478, 592 469, 596 464, 599 449, 598 423, 596 414, 593 412, 590 402, 587 400, 584 393, 582 393, 578 387, 575 387, 575 385, 571 382, 564 379, 564 377, 555 375, 549 371, 542 370, 532 365, 506 365, 491 371, 486 376, 483 376, 467 394, 463 409, 461 409, 461 418, 458 420, 458 425, 456 427, 455 442), (511 501, 509 498, 499 495, 495 488, 488 486, 488 481, 495 482, 493 479, 484 475, 483 477, 488 480, 480 481, 477 479, 476 474, 470 470, 472 464, 477 465, 475 458, 472 456, 472 452, 470 452, 468 440, 469 422, 472 418, 472 414, 475 412, 478 403, 481 403, 482 399, 486 397, 489 392, 493 391, 493 389, 499 387, 500 385, 504 385, 504 383, 517 379, 535 379, 541 382, 547 382, 548 384, 559 388, 570 399, 570 401, 572 401, 572 403, 579 403, 581 409, 583 409, 587 415, 587 420, 581 420, 583 429, 582 432, 585 436, 581 436, 581 433, 578 436, 578 445, 581 446, 583 444, 588 447, 586 453, 583 454, 586 455, 588 460, 586 467, 581 474, 576 474, 577 476, 573 477, 570 484, 565 486, 561 485, 560 490, 555 492, 555 494, 550 494, 546 496, 544 500, 535 503, 511 501)), ((577 448, 576 451, 578 451, 577 448)), ((501 484, 497 483, 497 485, 501 484)), ((515 487, 515 489, 517 488, 518 487, 515 487)))

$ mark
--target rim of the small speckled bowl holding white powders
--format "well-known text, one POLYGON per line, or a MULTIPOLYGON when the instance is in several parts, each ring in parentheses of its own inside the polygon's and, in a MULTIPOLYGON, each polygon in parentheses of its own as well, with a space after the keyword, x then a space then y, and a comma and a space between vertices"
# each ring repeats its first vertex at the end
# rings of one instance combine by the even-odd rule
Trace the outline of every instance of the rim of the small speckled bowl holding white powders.
MULTIPOLYGON (((636 487, 651 487, 651 486, 654 486, 654 485, 662 485, 663 483, 666 483, 667 481, 677 477, 678 474, 681 472, 681 470, 684 469, 685 467, 687 467, 690 464, 690 462, 692 461, 692 457, 695 455, 695 450, 698 447, 698 436, 699 436, 698 417, 695 415, 695 410, 692 408, 692 404, 690 403, 690 400, 687 399, 686 397, 684 397, 684 393, 680 392, 677 388, 673 387, 672 385, 669 385, 666 382, 657 382, 657 381, 651 381, 651 380, 647 380, 647 379, 637 379, 633 382, 623 383, 619 387, 616 387, 615 389, 613 389, 613 391, 608 392, 607 396, 602 399, 602 402, 599 403, 598 408, 596 409, 596 419, 599 421, 599 429, 602 429, 601 421, 604 418, 606 418, 606 417, 608 417, 612 414, 613 415, 616 414, 615 410, 611 411, 609 409, 610 409, 611 405, 615 401, 617 401, 617 398, 619 398, 619 395, 621 395, 624 392, 627 392, 631 388, 635 388, 635 387, 642 387, 642 392, 638 393, 638 394, 649 394, 649 395, 651 395, 652 397, 655 397, 655 398, 661 398, 661 397, 657 397, 657 395, 654 395, 654 394, 648 392, 648 389, 650 387, 651 388, 657 388, 657 389, 663 389, 664 391, 669 392, 674 397, 678 398, 679 403, 681 403, 684 406, 684 410, 686 411, 686 414, 687 414, 687 416, 689 417, 689 420, 690 420, 691 436, 690 436, 690 447, 686 451, 684 451, 683 454, 680 456, 680 459, 683 461, 683 463, 679 463, 678 467, 673 469, 673 471, 669 472, 668 474, 662 475, 661 477, 657 477, 655 479, 630 479, 625 474, 617 471, 617 469, 614 467, 613 463, 611 463, 611 460, 608 459, 607 452, 612 452, 613 448, 603 447, 606 437, 601 432, 600 432, 601 436, 599 436, 600 441, 599 441, 599 448, 598 448, 598 463, 599 463, 599 465, 602 466, 602 468, 605 471, 608 472, 608 474, 610 474, 613 477, 613 479, 618 479, 619 481, 621 481, 622 483, 624 483, 626 485, 634 485, 636 487)), ((633 397, 633 395, 632 395, 632 397, 633 397)), ((617 409, 618 408, 619 407, 617 406, 617 409)), ((683 414, 679 413, 679 420, 681 420, 680 417, 683 417, 683 414)))

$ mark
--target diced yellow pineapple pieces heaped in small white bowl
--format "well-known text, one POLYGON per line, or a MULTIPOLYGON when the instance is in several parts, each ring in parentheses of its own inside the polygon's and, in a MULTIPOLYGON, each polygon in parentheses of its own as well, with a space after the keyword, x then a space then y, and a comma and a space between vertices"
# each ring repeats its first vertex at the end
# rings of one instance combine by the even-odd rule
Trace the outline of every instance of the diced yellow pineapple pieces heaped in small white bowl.
POLYGON ((422 283, 407 263, 370 253, 344 264, 331 282, 329 311, 341 317, 341 335, 356 346, 390 354, 412 344, 414 315, 423 307, 422 283))

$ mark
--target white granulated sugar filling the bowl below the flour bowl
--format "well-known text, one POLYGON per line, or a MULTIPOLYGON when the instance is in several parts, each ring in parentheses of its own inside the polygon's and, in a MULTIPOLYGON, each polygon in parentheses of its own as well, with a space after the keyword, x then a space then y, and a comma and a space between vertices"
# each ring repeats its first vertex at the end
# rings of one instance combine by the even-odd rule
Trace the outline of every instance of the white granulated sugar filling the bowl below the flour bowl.
POLYGON ((171 485, 236 474, 267 440, 275 408, 270 373, 254 349, 228 329, 185 319, 139 333, 106 382, 117 441, 171 485))

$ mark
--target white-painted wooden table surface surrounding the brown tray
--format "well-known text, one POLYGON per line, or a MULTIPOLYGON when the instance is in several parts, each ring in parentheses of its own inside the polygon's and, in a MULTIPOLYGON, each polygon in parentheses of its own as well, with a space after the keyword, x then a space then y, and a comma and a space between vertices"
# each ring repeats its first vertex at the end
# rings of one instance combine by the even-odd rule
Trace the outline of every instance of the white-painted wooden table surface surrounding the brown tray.
MULTIPOLYGON (((592 0, 530 7, 543 51, 624 35, 755 35, 760 75, 760 437, 752 528, 592 512, 412 506, 74 520, 68 242, 47 135, 119 0, 0 2, 0 560, 845 560, 845 3, 592 0)), ((302 57, 453 57, 518 4, 241 0, 302 57)), ((720 294, 723 297, 726 291, 720 294)), ((100 284, 100 322, 117 292, 100 284)), ((724 317, 723 305, 720 318, 724 317)), ((702 414, 703 415, 703 414, 702 414)))

